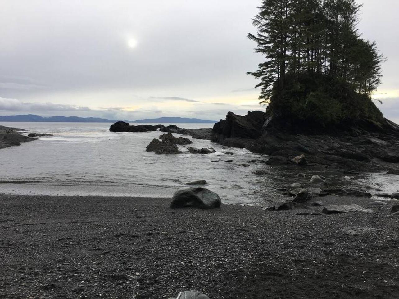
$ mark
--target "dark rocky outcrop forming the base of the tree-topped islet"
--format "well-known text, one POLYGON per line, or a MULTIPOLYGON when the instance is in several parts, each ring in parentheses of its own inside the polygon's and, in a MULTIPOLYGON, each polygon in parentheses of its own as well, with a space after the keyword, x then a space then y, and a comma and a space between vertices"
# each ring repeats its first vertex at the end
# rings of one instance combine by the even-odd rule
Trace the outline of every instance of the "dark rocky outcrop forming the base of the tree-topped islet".
POLYGON ((399 166, 383 163, 399 163, 399 126, 387 119, 381 124, 365 121, 339 129, 318 128, 309 133, 299 129, 290 131, 289 120, 277 124, 270 121, 267 113, 254 111, 240 116, 229 112, 225 120, 214 125, 211 140, 268 154, 267 164, 273 166, 306 164, 337 170, 399 173, 399 166))

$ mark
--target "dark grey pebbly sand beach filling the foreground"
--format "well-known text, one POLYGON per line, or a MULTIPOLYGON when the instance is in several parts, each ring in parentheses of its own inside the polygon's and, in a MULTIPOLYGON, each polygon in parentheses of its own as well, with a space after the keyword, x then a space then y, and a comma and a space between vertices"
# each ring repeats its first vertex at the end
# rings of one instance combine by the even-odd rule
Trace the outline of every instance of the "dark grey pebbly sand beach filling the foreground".
POLYGON ((188 289, 211 299, 399 297, 399 217, 389 216, 391 204, 332 216, 168 205, 0 196, 0 298, 158 299, 188 289), (341 230, 354 226, 381 231, 341 230))

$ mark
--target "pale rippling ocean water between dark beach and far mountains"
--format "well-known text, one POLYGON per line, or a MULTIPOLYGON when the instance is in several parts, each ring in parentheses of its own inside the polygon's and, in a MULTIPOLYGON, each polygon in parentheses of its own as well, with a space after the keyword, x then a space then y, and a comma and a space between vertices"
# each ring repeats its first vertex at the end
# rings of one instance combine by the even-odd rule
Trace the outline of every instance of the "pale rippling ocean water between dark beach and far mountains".
MULTIPOLYGON (((0 123, 53 137, 0 150, 0 193, 48 195, 171 197, 186 182, 205 179, 206 188, 225 203, 255 203, 260 185, 252 172, 260 164, 240 166, 251 159, 265 159, 246 149, 223 147, 192 139, 192 147, 213 147, 208 155, 157 155, 145 148, 162 132, 112 133, 111 123, 0 123), (232 151, 234 155, 225 152, 232 151), (232 163, 225 160, 232 159, 232 163), (220 160, 219 162, 211 162, 220 160)), ((164 124, 170 125, 170 124, 164 124)), ((184 128, 213 124, 176 124, 184 128)), ((175 134, 179 136, 178 134, 175 134)), ((186 136, 188 137, 188 136, 186 136)), ((263 165, 264 167, 264 165, 263 165)), ((267 180, 264 178, 264 180, 267 180)))

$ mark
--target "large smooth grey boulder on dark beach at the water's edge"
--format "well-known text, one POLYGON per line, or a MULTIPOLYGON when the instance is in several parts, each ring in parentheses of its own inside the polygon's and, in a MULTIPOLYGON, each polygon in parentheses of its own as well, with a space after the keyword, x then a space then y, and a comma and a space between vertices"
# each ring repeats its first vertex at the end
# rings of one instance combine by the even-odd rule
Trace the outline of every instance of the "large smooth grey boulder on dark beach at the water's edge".
POLYGON ((173 194, 170 207, 211 209, 219 208, 220 204, 221 200, 217 193, 201 187, 188 187, 179 189, 173 194))

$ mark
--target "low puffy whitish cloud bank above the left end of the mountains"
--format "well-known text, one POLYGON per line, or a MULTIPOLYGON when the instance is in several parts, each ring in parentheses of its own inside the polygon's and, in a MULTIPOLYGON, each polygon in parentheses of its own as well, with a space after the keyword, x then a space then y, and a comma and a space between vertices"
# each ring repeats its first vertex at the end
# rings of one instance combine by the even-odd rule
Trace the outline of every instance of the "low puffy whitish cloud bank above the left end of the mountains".
POLYGON ((29 113, 32 111, 92 111, 89 107, 78 105, 24 103, 17 99, 6 99, 3 97, 0 97, 0 110, 29 113))

